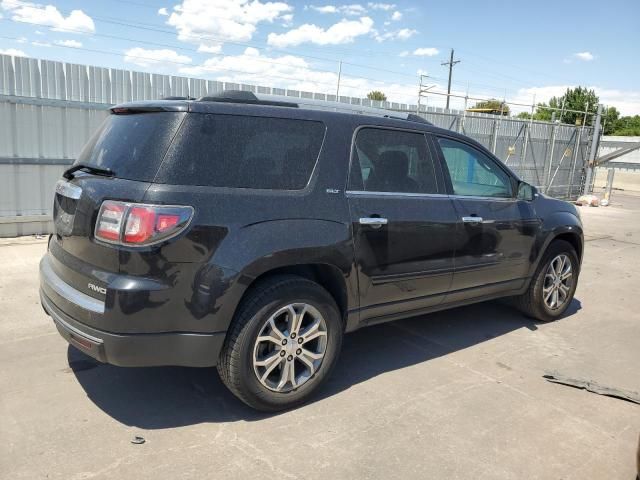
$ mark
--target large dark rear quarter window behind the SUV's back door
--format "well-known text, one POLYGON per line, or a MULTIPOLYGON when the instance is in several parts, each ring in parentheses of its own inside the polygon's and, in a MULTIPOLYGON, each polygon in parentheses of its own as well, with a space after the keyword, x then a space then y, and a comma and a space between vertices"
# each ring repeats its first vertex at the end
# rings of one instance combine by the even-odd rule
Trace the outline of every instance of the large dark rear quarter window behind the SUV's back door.
POLYGON ((189 114, 156 182, 176 185, 301 190, 324 139, 321 122, 189 114))

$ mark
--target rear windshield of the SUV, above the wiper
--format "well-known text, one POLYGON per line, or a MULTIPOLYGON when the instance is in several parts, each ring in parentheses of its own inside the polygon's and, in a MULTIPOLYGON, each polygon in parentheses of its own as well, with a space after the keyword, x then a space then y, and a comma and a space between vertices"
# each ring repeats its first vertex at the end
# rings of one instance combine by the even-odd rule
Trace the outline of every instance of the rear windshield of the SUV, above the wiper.
POLYGON ((185 113, 109 115, 75 163, 109 168, 119 178, 151 182, 185 113))

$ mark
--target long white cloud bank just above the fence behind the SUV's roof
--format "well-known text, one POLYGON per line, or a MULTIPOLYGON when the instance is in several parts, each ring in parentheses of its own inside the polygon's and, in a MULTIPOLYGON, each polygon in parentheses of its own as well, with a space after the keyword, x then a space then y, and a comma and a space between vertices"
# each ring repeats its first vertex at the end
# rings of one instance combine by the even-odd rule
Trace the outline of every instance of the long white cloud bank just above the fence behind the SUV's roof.
MULTIPOLYGON (((338 75, 316 70, 307 60, 293 55, 270 57, 255 48, 240 55, 210 58, 203 64, 183 67, 187 75, 204 76, 223 82, 249 83, 307 92, 335 94, 338 75)), ((371 90, 381 90, 394 102, 415 103, 416 87, 341 76, 340 95, 364 98, 371 90)))

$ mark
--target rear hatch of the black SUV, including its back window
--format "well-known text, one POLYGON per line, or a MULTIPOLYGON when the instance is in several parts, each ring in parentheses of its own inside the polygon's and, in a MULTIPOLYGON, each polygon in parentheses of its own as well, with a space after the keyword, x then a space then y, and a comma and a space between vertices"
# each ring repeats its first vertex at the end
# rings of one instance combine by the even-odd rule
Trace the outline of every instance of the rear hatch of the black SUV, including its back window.
POLYGON ((119 272, 121 259, 118 248, 94 238, 100 206, 104 200, 143 200, 186 115, 184 104, 171 108, 177 111, 116 110, 78 156, 73 167, 78 170, 58 182, 48 260, 76 290, 105 299, 102 289, 119 272))

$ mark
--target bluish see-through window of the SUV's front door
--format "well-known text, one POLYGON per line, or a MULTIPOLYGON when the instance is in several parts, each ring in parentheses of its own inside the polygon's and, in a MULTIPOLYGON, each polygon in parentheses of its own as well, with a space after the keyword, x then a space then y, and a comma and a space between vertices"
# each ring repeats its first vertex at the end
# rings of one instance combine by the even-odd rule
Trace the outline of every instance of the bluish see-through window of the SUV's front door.
POLYGON ((438 138, 455 195, 510 198, 511 180, 491 158, 465 143, 438 138))

